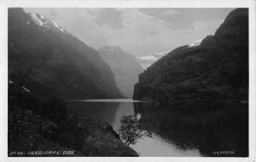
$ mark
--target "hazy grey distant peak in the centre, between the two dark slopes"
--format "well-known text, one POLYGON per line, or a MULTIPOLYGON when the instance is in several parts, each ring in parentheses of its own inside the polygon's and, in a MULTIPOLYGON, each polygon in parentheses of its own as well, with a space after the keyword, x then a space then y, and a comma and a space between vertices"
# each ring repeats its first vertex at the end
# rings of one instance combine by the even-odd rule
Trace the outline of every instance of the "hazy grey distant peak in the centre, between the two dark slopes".
POLYGON ((113 71, 119 90, 125 97, 132 97, 134 84, 138 81, 138 75, 143 72, 136 58, 125 53, 120 47, 106 46, 100 48, 98 52, 113 71))

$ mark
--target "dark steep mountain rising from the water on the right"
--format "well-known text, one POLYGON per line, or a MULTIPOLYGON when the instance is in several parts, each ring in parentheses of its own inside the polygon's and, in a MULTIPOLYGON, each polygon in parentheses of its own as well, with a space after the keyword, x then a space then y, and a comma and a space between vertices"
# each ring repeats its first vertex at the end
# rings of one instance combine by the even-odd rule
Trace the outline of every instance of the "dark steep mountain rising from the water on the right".
POLYGON ((201 101, 248 95, 248 9, 230 12, 214 36, 177 47, 141 75, 133 98, 201 101))

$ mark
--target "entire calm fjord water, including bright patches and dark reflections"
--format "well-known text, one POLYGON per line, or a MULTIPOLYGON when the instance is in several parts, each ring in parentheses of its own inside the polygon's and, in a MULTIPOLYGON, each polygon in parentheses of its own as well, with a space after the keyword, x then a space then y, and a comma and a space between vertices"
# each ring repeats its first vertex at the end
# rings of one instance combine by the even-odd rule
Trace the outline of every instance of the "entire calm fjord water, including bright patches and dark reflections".
POLYGON ((122 116, 140 116, 152 137, 130 145, 140 156, 247 156, 247 104, 169 103, 127 99, 67 102, 71 113, 107 121, 118 131, 122 116), (229 154, 216 154, 230 151, 229 154))

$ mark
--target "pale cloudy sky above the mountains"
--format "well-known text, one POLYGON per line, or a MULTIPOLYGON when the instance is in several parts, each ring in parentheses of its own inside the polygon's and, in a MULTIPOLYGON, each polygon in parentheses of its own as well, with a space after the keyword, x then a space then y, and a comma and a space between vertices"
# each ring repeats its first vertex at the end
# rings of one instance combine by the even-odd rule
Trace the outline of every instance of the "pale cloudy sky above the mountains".
POLYGON ((146 56, 213 35, 234 8, 25 8, 96 50, 119 46, 146 56))

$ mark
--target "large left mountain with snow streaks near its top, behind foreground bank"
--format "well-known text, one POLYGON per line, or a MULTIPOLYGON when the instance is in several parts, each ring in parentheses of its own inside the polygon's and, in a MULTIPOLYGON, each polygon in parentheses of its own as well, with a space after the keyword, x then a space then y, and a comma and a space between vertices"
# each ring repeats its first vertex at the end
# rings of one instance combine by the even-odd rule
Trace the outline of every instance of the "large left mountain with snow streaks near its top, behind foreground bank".
POLYGON ((9 8, 9 80, 63 98, 120 98, 113 73, 92 47, 40 14, 9 8))

